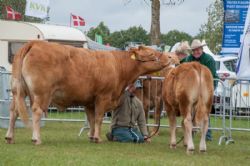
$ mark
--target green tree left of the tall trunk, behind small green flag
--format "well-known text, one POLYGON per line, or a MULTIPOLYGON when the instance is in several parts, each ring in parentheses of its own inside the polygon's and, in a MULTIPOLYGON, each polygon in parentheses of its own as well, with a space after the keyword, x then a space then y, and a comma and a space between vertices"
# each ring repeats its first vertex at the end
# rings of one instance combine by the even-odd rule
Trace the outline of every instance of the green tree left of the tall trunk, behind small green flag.
POLYGON ((95 40, 96 34, 102 36, 103 43, 105 44, 108 43, 110 30, 106 25, 104 25, 104 22, 100 22, 100 24, 96 28, 94 27, 90 28, 90 30, 87 33, 87 36, 90 37, 92 40, 95 40))

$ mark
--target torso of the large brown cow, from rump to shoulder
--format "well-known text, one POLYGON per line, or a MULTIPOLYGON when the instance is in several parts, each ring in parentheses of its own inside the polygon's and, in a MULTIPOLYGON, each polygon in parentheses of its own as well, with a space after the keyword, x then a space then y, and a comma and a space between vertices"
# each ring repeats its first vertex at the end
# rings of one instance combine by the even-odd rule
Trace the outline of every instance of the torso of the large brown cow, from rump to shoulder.
POLYGON ((108 52, 38 41, 25 56, 22 73, 34 95, 48 94, 61 106, 88 104, 95 94, 114 86, 114 61, 108 52))

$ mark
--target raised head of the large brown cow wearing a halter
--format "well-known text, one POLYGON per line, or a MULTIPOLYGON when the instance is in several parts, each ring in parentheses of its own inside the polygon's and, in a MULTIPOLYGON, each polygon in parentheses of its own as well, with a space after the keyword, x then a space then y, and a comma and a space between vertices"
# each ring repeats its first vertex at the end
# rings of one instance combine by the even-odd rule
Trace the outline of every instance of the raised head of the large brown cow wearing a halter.
POLYGON ((159 71, 170 64, 171 57, 146 46, 131 48, 131 59, 136 60, 146 70, 145 72, 159 71))

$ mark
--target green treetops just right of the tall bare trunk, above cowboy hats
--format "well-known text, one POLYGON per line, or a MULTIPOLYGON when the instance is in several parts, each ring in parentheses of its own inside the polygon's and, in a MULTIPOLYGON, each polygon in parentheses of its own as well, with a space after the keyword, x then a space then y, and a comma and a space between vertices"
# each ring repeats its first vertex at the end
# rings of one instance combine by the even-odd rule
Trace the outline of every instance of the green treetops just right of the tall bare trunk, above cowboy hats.
POLYGON ((173 46, 175 43, 180 41, 192 41, 193 37, 186 32, 180 32, 178 30, 169 31, 167 34, 161 35, 161 43, 173 46))

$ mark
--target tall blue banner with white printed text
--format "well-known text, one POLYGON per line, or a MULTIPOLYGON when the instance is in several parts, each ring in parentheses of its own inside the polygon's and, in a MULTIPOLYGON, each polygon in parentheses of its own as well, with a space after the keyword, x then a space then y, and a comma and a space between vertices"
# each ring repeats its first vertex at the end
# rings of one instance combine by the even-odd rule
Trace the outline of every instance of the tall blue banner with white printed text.
POLYGON ((250 0, 224 0, 222 54, 238 54, 250 0))

